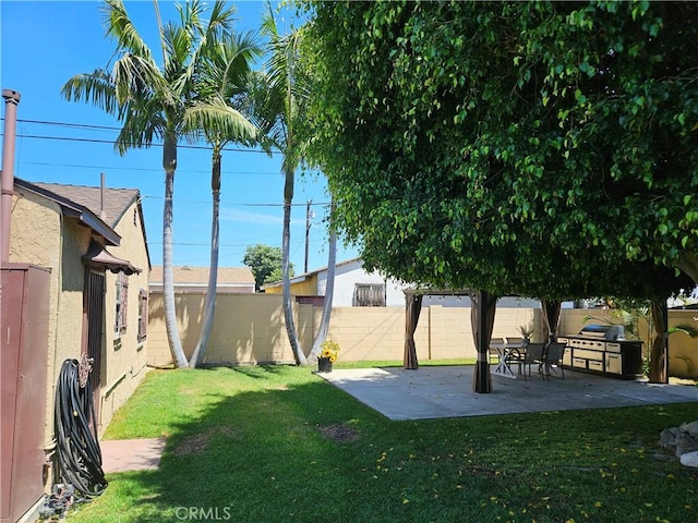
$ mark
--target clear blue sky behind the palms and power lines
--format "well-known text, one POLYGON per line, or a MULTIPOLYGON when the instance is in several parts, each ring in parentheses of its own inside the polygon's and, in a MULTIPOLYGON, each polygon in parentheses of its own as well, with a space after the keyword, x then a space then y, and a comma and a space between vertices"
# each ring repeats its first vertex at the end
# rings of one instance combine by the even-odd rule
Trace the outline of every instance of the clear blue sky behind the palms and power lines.
MULTIPOLYGON (((262 1, 236 5, 237 31, 256 29, 262 1)), ((176 20, 174 2, 160 0, 163 21, 176 20)), ((127 1, 139 32, 157 49, 152 1, 127 1)), ((113 149, 119 122, 83 102, 69 102, 61 87, 73 75, 105 68, 115 45, 105 37, 99 3, 94 1, 0 2, 2 88, 21 93, 14 173, 31 182, 139 188, 142 195, 152 263, 163 260, 164 173, 161 148, 113 149)), ((279 19, 279 27, 292 20, 279 19)), ((156 54, 157 56, 157 54, 156 54)), ((4 107, 4 104, 3 104, 4 107)), ((4 108, 2 109, 4 118, 4 108)), ((210 151, 180 144, 174 180, 173 253, 176 265, 207 266, 210 242, 210 151)), ((281 245, 282 190, 280 158, 228 147, 222 156, 220 206, 221 267, 242 266, 248 245, 281 245)), ((306 203, 312 200, 309 269, 327 265, 324 219, 329 197, 322 175, 297 175, 291 227, 291 262, 303 272, 306 203)), ((357 256, 338 245, 337 259, 357 256)))

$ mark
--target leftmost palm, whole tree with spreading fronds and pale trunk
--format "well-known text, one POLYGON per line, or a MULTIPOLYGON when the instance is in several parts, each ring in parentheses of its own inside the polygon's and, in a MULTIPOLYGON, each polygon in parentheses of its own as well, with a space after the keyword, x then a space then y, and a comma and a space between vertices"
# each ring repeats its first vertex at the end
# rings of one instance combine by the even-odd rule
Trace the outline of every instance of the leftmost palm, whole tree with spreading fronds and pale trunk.
MULTIPOLYGON (((157 1, 154 1, 159 22, 157 1)), ((69 80, 62 89, 68 100, 91 102, 121 122, 122 129, 116 147, 120 154, 132 147, 145 148, 155 138, 163 141, 163 168, 165 170, 165 204, 163 211, 163 295, 165 323, 172 357, 178 367, 188 365, 186 356, 177 330, 174 285, 172 279, 172 195, 177 170, 178 139, 189 132, 185 115, 196 99, 195 88, 209 48, 214 47, 232 26, 232 9, 216 1, 210 16, 204 22, 204 5, 194 0, 177 5, 180 25, 160 26, 163 63, 158 64, 151 49, 139 35, 122 0, 106 0, 104 4, 107 35, 117 41, 119 58, 111 72, 98 69, 69 80)), ((203 108, 197 110, 205 112, 203 108)), ((209 121, 219 121, 220 113, 213 112, 209 121)), ((254 129, 240 118, 229 123, 238 127, 238 135, 254 136, 254 129)), ((201 120, 204 120, 201 118, 201 120)))

